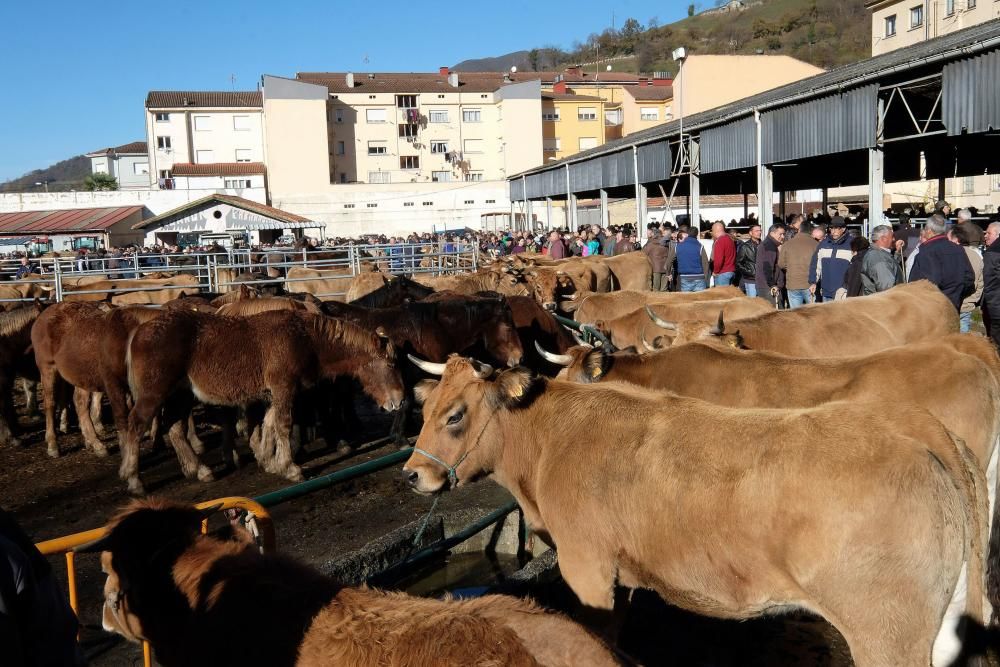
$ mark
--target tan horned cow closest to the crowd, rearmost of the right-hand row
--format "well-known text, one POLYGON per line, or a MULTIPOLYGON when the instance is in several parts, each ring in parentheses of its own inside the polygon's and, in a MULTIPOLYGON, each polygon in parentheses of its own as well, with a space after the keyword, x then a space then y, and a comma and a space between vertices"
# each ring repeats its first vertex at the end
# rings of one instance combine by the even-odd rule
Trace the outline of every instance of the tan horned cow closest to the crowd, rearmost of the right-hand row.
POLYGON ((726 326, 722 313, 715 324, 670 322, 655 313, 650 318, 666 332, 661 344, 704 340, 796 357, 871 354, 958 331, 955 307, 926 280, 866 297, 775 310, 732 327, 726 326))

